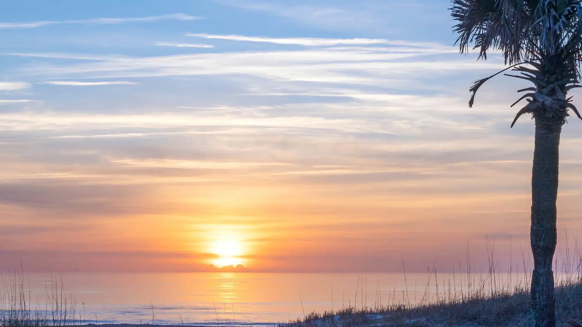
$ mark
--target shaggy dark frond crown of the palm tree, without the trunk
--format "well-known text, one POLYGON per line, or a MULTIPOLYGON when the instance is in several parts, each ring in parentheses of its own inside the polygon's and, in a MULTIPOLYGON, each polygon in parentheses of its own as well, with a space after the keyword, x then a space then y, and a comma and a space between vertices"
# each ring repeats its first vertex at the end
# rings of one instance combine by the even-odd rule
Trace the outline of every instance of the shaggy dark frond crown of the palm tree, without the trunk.
MULTIPOLYGON (((458 22, 454 30, 459 34, 457 44, 461 52, 469 52, 470 44, 479 49, 482 59, 487 59, 490 51, 501 52, 510 65, 507 69, 520 72, 510 76, 534 84, 533 88, 520 90, 533 93, 520 98, 519 101, 528 98, 530 104, 521 109, 513 124, 523 113, 535 116, 541 104, 552 111, 546 114, 551 113, 563 122, 569 115, 567 108, 582 119, 570 98, 566 99, 567 91, 579 87, 576 84, 580 80, 580 0, 453 0, 450 9, 458 22)), ((470 106, 477 90, 491 77, 475 81, 470 90, 473 93, 470 106)))

